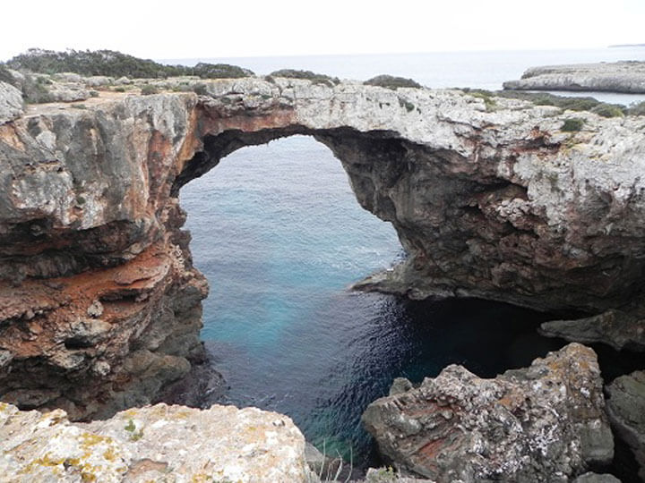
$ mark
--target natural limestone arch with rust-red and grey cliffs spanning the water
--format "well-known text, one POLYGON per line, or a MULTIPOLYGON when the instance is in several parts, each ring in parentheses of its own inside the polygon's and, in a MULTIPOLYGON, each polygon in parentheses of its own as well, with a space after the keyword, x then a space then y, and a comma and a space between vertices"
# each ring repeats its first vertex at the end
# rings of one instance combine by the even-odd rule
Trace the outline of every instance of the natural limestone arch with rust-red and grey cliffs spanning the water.
POLYGON ((207 287, 178 192, 296 133, 333 150, 409 252, 366 288, 591 312, 641 291, 643 118, 576 113, 581 131, 563 131, 572 113, 555 107, 355 82, 199 91, 106 91, 0 121, 0 399, 83 419, 185 375, 207 287))

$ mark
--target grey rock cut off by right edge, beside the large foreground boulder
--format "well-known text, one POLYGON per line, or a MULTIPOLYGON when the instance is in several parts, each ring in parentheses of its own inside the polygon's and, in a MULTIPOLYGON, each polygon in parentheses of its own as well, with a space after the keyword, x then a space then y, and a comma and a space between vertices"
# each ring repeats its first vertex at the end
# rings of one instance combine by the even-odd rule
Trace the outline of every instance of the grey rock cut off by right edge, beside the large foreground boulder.
POLYGON ((606 386, 607 414, 618 437, 624 440, 641 466, 645 479, 645 371, 615 378, 606 386))

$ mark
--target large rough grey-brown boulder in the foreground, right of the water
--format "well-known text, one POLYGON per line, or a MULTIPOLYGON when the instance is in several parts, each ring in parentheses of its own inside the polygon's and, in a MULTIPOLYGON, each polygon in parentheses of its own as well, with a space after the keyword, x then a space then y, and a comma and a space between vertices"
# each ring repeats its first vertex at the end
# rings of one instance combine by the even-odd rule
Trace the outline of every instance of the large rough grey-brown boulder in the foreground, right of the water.
POLYGON ((449 366, 363 422, 391 462, 440 483, 567 481, 614 456, 596 354, 578 343, 495 379, 449 366))

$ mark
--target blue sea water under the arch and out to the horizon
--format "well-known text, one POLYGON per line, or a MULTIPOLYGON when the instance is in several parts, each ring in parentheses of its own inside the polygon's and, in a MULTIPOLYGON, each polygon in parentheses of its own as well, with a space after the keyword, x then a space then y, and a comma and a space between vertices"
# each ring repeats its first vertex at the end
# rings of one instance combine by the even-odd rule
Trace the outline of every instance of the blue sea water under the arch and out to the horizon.
MULTIPOLYGON (((391 73, 434 88, 501 89, 530 66, 617 60, 645 61, 645 47, 164 62, 357 80, 391 73)), ((202 338, 229 386, 222 402, 285 413, 309 441, 327 454, 351 453, 355 465, 374 457, 360 415, 394 377, 420 382, 451 363, 492 377, 563 345, 537 335, 549 317, 527 309, 348 291, 404 254, 391 225, 359 207, 340 162, 313 138, 239 149, 186 185, 181 203, 194 263, 211 285, 202 338)))

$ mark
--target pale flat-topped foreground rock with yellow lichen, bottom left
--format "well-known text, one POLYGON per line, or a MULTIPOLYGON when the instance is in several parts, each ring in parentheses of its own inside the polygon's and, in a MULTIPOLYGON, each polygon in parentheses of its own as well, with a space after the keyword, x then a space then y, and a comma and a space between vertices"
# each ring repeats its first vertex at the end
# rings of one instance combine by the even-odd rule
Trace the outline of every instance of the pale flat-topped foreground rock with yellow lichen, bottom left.
POLYGON ((305 438, 254 408, 158 404, 89 424, 0 402, 0 479, 12 482, 305 482, 305 438))

